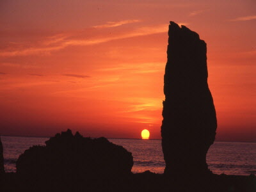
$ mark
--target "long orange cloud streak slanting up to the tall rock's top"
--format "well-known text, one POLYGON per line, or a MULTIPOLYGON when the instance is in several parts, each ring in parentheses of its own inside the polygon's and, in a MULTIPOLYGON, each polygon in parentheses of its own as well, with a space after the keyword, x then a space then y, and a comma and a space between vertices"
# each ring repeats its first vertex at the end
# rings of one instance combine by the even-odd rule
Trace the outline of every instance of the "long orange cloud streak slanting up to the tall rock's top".
MULTIPOLYGON (((140 28, 136 28, 133 31, 125 31, 125 33, 116 35, 116 36, 104 36, 101 38, 92 38, 92 39, 84 39, 84 38, 74 38, 74 39, 63 39, 61 40, 59 37, 58 40, 52 42, 56 42, 56 44, 51 46, 45 46, 42 44, 42 47, 29 47, 24 48, 16 51, 2 51, 0 52, 0 56, 28 56, 33 54, 49 54, 52 51, 60 51, 68 46, 88 46, 88 45, 96 45, 102 44, 106 42, 110 42, 113 40, 121 40, 124 38, 132 38, 135 36, 145 36, 145 35, 153 35, 157 33, 167 33, 168 31, 168 24, 161 24, 158 26, 143 26, 140 28), (44 46, 44 47, 43 47, 44 46)), ((74 34, 76 35, 76 34, 74 34)))

